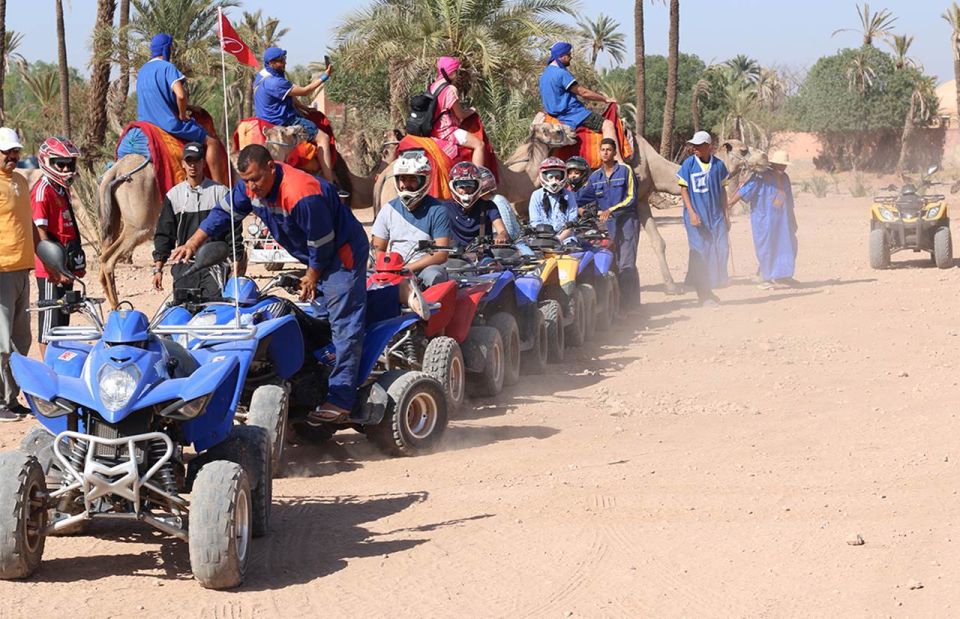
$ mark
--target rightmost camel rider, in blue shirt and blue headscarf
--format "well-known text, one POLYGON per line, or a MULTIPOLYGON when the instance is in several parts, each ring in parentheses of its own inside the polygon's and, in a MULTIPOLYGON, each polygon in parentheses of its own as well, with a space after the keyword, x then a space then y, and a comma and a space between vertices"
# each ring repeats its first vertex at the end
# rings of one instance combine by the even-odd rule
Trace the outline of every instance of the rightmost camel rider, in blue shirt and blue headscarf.
MULTIPOLYGON (((613 121, 588 109, 577 97, 600 103, 616 103, 617 100, 577 83, 577 78, 568 69, 572 53, 573 46, 564 41, 554 43, 550 48, 550 60, 540 76, 540 101, 543 109, 565 125, 574 129, 586 127, 602 133, 604 138, 616 143, 617 130, 613 121)), ((619 148, 617 160, 620 160, 619 148)))

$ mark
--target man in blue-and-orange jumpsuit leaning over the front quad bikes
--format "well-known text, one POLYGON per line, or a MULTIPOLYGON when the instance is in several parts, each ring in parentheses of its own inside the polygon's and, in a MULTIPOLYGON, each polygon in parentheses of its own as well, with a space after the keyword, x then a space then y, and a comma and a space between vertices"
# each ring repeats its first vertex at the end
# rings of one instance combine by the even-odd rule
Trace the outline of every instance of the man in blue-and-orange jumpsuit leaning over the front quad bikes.
MULTIPOLYGON (((307 417, 308 423, 343 422, 356 401, 366 309, 366 267, 370 246, 363 226, 330 183, 284 163, 266 148, 251 144, 240 151, 233 188, 236 219, 256 213, 290 254, 307 265, 300 299, 320 302, 330 319, 336 362, 327 399, 307 417)), ((170 261, 187 260, 208 236, 230 225, 230 204, 220 203, 170 261)))

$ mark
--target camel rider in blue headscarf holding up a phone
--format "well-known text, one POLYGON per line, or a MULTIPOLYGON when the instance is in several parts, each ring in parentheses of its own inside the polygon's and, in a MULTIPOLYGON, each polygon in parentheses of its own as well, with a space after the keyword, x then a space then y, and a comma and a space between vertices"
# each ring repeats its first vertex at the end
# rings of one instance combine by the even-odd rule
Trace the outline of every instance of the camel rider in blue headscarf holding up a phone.
POLYGON ((263 53, 263 69, 253 78, 253 109, 257 118, 281 127, 303 127, 308 142, 320 149, 320 173, 333 181, 333 160, 330 157, 330 136, 308 116, 312 111, 297 97, 313 93, 330 79, 333 65, 328 64, 319 78, 306 86, 297 86, 287 79, 287 50, 268 47, 263 53))

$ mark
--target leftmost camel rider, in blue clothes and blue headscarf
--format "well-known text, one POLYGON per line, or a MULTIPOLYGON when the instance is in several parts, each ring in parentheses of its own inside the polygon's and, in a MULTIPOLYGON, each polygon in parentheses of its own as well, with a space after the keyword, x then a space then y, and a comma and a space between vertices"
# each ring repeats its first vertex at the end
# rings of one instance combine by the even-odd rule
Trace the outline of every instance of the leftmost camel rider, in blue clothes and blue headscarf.
POLYGON ((137 119, 156 125, 184 142, 199 142, 207 149, 210 176, 227 183, 227 162, 220 156, 217 138, 190 117, 186 76, 170 62, 173 37, 165 32, 150 40, 150 60, 137 71, 137 119))

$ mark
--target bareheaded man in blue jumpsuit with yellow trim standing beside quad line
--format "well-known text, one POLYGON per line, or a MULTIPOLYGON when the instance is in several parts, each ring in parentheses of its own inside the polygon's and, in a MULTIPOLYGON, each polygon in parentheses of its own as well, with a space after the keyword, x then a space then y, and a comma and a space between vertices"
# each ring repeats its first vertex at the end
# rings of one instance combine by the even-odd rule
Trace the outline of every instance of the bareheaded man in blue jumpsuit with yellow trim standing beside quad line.
POLYGON ((637 273, 637 246, 640 244, 640 217, 637 214, 637 179, 628 166, 617 163, 617 143, 600 142, 600 167, 590 175, 577 194, 577 204, 597 203, 600 223, 607 225, 620 283, 624 309, 640 304, 640 276, 637 273))

